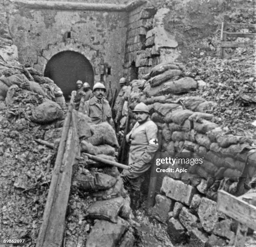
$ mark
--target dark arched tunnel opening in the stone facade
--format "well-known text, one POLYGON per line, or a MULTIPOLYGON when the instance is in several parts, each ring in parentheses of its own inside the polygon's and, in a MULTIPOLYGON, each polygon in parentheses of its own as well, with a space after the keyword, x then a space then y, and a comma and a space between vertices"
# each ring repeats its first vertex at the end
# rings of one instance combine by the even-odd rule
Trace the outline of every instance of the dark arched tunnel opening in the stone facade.
POLYGON ((77 90, 77 80, 87 81, 91 88, 94 84, 92 65, 84 55, 75 51, 61 51, 52 56, 46 64, 44 76, 60 87, 65 99, 73 90, 77 90))

